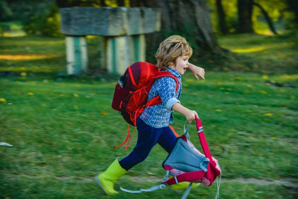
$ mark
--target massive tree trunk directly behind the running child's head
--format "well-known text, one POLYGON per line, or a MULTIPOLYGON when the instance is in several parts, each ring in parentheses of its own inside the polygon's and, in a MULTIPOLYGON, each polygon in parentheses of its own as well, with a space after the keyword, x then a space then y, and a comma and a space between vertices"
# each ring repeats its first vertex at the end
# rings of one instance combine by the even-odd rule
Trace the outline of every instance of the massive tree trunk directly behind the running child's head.
MULTIPOLYGON (((161 10, 161 31, 147 35, 147 52, 156 52, 166 37, 179 34, 186 37, 195 49, 194 55, 204 51, 221 52, 212 28, 206 0, 145 0, 150 7, 161 10)), ((147 56, 149 59, 153 58, 147 56)))

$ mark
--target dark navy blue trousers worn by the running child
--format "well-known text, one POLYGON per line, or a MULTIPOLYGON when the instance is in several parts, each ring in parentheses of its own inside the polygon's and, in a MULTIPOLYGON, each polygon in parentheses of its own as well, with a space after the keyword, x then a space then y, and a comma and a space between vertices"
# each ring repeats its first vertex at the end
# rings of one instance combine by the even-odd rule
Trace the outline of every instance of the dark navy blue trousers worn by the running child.
POLYGON ((137 120, 138 140, 134 150, 122 159, 119 164, 126 171, 143 162, 149 155, 153 146, 158 143, 168 153, 175 146, 176 136, 169 126, 154 128, 142 119, 137 120))

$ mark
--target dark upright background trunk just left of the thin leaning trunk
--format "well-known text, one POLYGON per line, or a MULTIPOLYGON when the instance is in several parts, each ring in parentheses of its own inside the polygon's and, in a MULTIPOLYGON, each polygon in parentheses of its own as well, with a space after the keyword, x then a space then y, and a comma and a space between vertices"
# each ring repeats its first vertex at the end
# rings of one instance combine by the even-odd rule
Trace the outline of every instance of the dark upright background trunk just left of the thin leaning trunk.
POLYGON ((238 0, 239 33, 254 33, 252 27, 253 0, 238 0))

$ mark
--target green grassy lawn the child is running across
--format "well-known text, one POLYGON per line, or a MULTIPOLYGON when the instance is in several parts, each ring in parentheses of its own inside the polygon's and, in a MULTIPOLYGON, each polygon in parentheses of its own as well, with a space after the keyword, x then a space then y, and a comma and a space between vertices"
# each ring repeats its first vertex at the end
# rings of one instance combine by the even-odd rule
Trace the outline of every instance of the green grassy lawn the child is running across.
MULTIPOLYGON (((182 77, 180 100, 198 112, 210 150, 222 167, 220 199, 298 198, 295 39, 263 35, 250 40, 243 35, 220 38, 225 48, 240 54, 233 66, 249 68, 251 63, 262 63, 262 67, 245 73, 207 70, 206 80, 199 81, 190 72, 182 77), (260 50, 263 47, 266 49, 260 50), (280 54, 275 56, 275 52, 280 54), (271 70, 272 66, 280 68, 271 70)), ((98 62, 96 42, 88 40, 93 67, 98 62)), ((64 38, 0 37, 0 49, 0 73, 5 76, 0 77, 0 142, 13 145, 0 146, 0 198, 116 198, 106 196, 94 177, 114 159, 128 155, 137 139, 135 135, 128 151, 112 147, 122 143, 127 132, 127 124, 111 108, 117 77, 57 76, 57 71, 65 71, 64 38)), ((174 113, 173 127, 180 134, 184 121, 184 116, 174 113)), ((193 124, 191 140, 201 150, 195 129, 193 124)), ((120 186, 147 189, 160 183, 166 156, 160 146, 154 147, 145 162, 116 183, 116 190, 120 186)), ((200 186, 188 199, 214 198, 216 189, 216 184, 200 186)), ((142 194, 121 192, 117 198, 181 196, 166 188, 142 194)))

